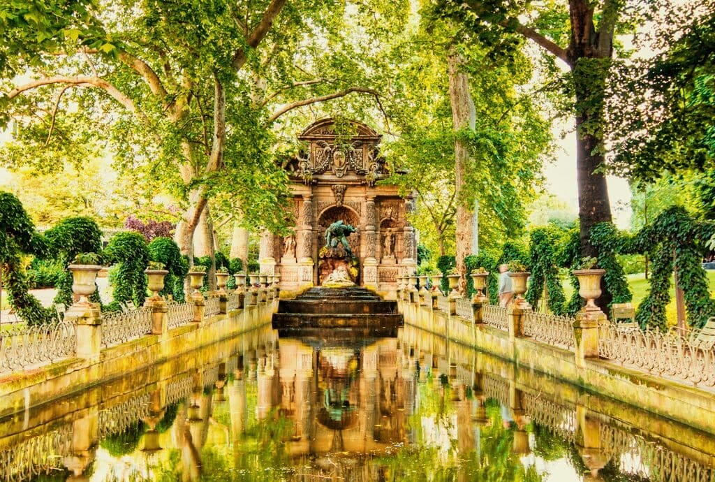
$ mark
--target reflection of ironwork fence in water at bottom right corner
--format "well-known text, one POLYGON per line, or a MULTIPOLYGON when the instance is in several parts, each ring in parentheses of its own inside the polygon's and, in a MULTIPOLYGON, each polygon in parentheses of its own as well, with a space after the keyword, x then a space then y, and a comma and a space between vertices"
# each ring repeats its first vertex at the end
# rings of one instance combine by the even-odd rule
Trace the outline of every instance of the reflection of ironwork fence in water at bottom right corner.
POLYGON ((604 453, 614 458, 621 473, 649 481, 715 480, 715 470, 669 448, 647 441, 621 428, 601 423, 599 428, 604 453))

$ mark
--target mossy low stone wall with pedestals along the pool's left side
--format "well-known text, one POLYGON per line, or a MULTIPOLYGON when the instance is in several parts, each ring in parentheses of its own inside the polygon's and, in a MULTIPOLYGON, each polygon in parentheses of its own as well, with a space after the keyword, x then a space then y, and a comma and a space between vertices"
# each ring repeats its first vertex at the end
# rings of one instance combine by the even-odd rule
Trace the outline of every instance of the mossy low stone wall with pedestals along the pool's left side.
POLYGON ((211 316, 204 316, 204 306, 196 303, 194 321, 172 329, 167 328, 166 305, 149 304, 154 310, 154 334, 104 349, 99 341, 102 338, 101 318, 94 320, 96 324, 88 323, 87 318, 78 318, 78 328, 86 333, 78 333, 77 358, 0 375, 0 417, 271 323, 277 297, 252 301, 246 297, 246 301, 246 304, 243 300, 240 303, 242 308, 226 313, 227 303, 222 297, 220 313, 211 316))

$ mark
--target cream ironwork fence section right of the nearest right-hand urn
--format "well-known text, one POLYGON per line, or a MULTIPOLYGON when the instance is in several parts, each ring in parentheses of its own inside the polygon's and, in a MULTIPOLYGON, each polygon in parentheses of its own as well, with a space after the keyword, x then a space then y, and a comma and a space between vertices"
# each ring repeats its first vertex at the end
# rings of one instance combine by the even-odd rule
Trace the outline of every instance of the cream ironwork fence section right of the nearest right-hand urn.
POLYGON ((715 348, 702 349, 679 335, 605 323, 598 330, 598 355, 661 377, 715 386, 715 348))

